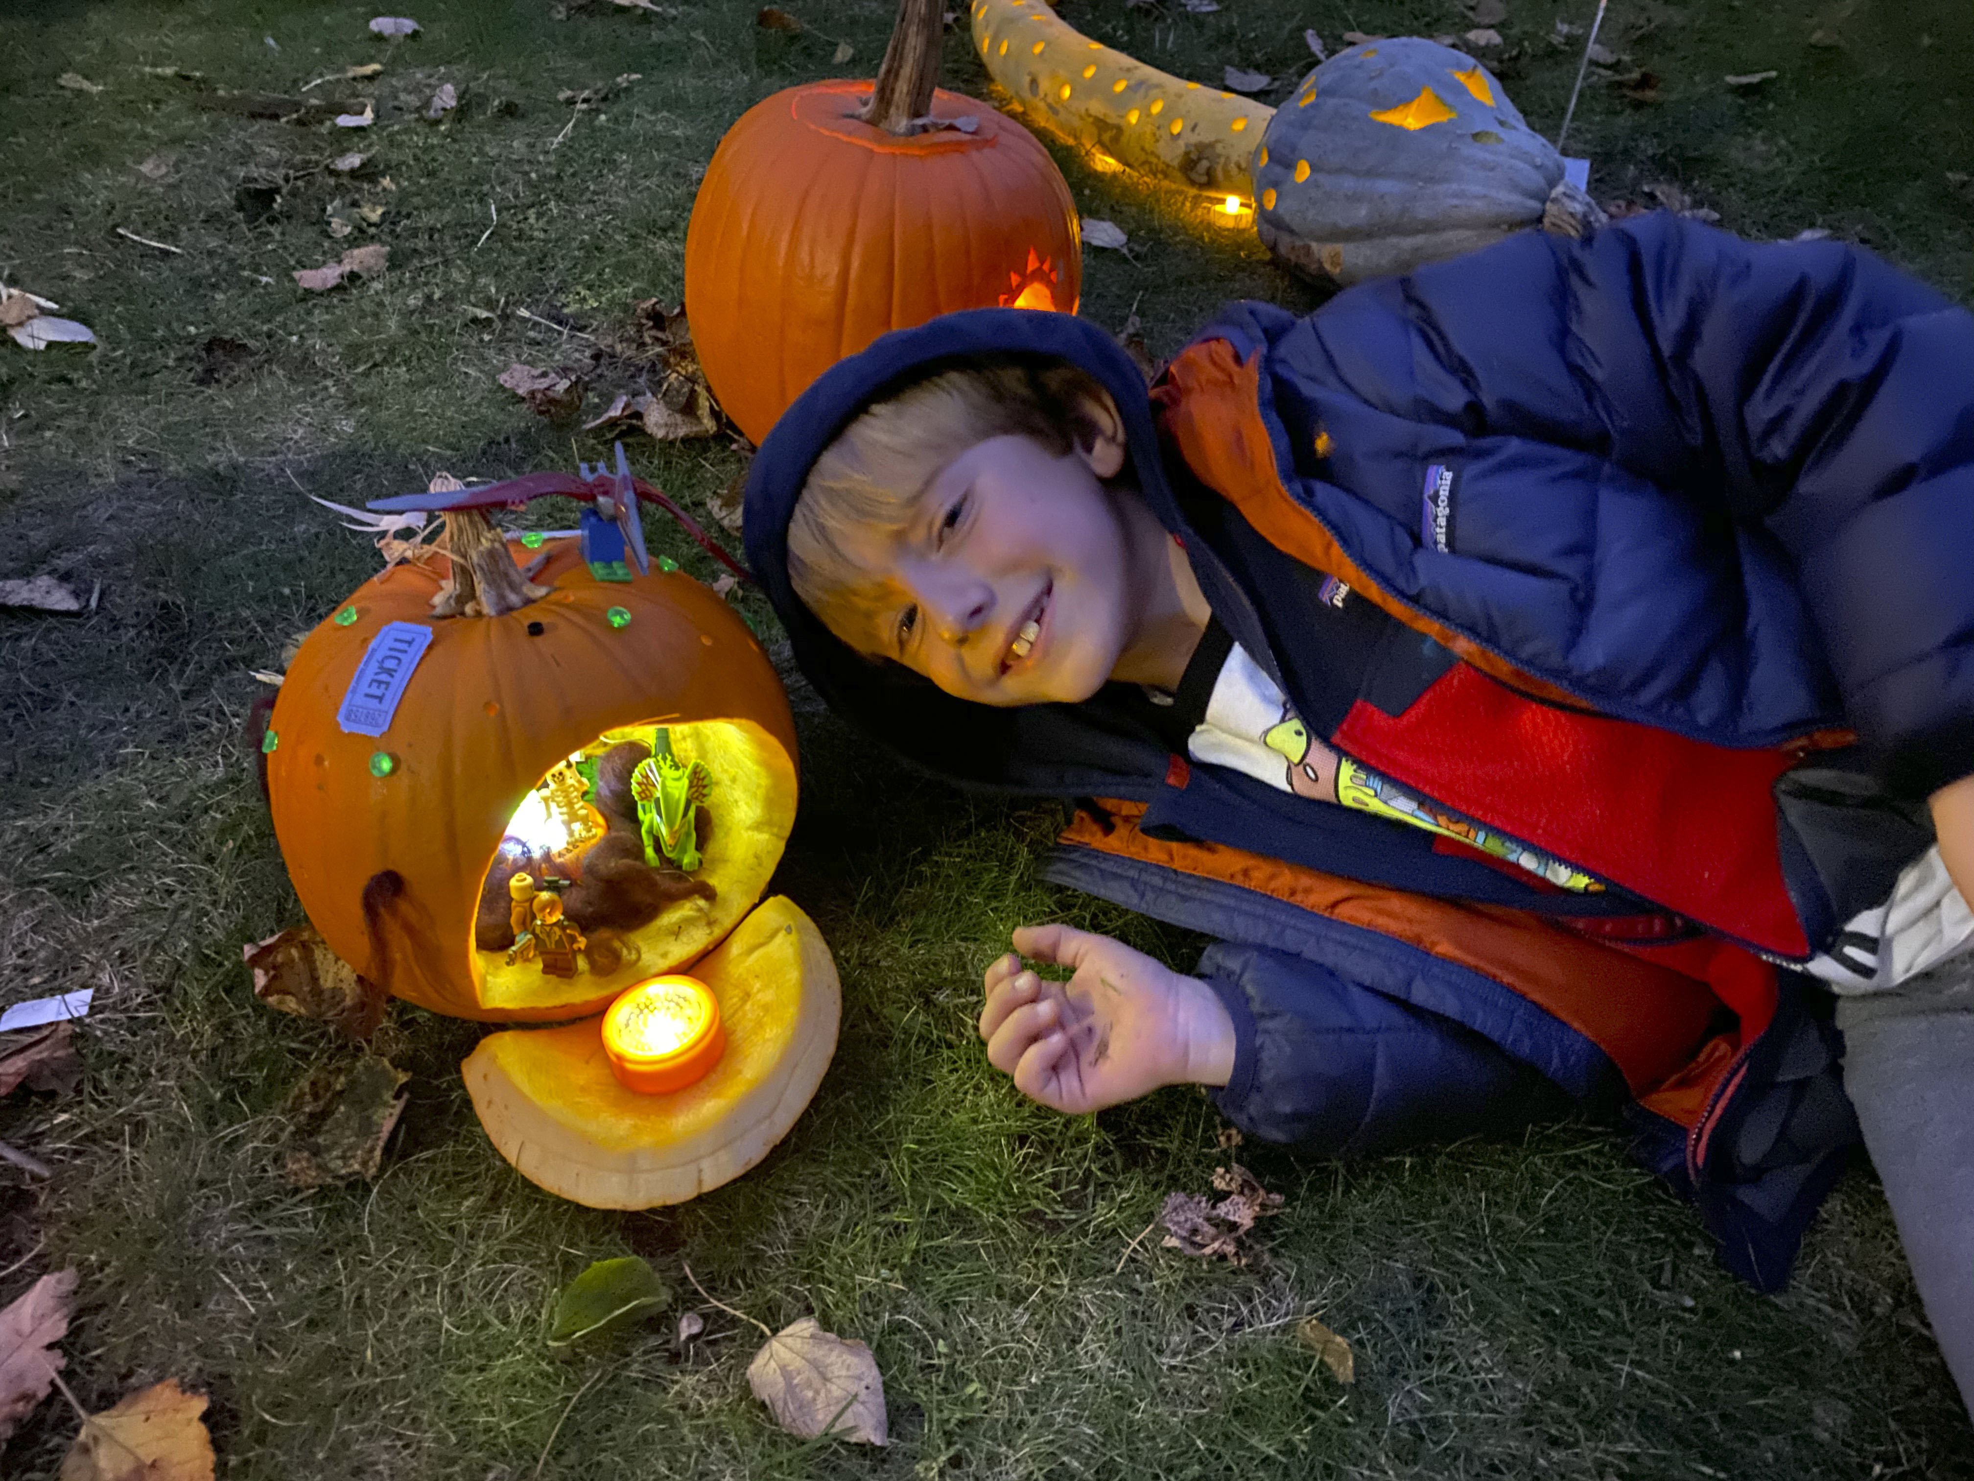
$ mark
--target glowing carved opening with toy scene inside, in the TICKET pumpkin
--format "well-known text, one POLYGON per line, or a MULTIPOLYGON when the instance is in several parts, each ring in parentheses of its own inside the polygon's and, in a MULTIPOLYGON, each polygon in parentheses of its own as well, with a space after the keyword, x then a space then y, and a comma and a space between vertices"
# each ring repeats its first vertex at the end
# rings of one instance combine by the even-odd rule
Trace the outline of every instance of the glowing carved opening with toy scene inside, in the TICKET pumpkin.
POLYGON ((521 796, 486 867, 480 1003, 592 1003, 689 964, 760 898, 794 802, 788 754, 748 721, 644 721, 578 746, 521 796))

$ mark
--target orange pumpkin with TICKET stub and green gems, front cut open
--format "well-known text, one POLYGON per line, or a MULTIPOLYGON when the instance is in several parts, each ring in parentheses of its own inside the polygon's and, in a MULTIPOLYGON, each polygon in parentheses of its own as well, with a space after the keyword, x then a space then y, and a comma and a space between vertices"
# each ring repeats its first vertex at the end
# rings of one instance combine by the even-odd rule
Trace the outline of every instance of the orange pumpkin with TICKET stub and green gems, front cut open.
MULTIPOLYGON (((576 541, 545 553, 533 581, 547 590, 497 616, 432 620, 444 557, 365 583, 294 656, 265 742, 308 918, 363 975, 434 1013, 582 1017, 693 962, 754 906, 796 818, 788 699, 732 608, 681 573, 600 583, 576 541), (428 648, 383 735, 349 733, 338 715, 389 622, 428 632, 428 648), (482 889, 521 804, 584 746, 638 727, 665 727, 681 762, 707 762, 715 827, 695 879, 715 898, 628 930, 624 954, 640 956, 612 972, 553 975, 478 950, 482 889)), ((490 555, 515 577, 497 543, 490 555)))

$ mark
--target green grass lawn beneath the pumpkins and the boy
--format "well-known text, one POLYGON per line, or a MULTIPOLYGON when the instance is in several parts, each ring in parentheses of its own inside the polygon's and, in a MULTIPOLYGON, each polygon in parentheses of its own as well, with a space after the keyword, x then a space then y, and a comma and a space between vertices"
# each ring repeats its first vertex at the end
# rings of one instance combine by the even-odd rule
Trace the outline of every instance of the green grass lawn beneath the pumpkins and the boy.
MULTIPOLYGON (((411 0, 407 0, 411 4, 411 0)), ((1788 1293, 1721 1274, 1694 1216, 1617 1133, 1563 1126, 1338 1167, 1244 1147, 1287 1195, 1250 1268, 1133 1246, 1224 1159, 1212 1108, 1167 1092, 1098 1118, 1021 1102, 973 1039, 1007 932, 1070 918, 1184 964, 1192 942, 1038 879, 1060 816, 898 776, 805 711, 803 816, 780 889, 843 968, 835 1066, 754 1173, 677 1208, 594 1212, 521 1181, 458 1078, 478 1029, 395 1007, 413 1100, 373 1185, 282 1177, 290 1086, 353 1051, 259 1005, 243 942, 300 918, 253 778, 247 713, 284 642, 373 567, 304 494, 357 504, 440 468, 497 478, 606 448, 494 377, 586 363, 638 298, 681 292, 685 221, 721 132, 790 83, 874 67, 890 0, 417 0, 373 39, 343 0, 16 0, 0 14, 0 276, 95 351, 0 342, 0 577, 101 581, 81 618, 0 612, 0 1005, 95 987, 77 1098, 0 1102, 0 1305, 81 1272, 65 1376, 107 1408, 164 1376, 211 1394, 227 1477, 1966 1477, 1974 1432, 1927 1337, 1865 1169, 1788 1293), (213 111, 383 59, 367 132, 213 111), (79 73, 101 91, 59 87, 79 73), (570 126, 565 89, 638 73, 570 126), (460 107, 418 109, 444 81, 460 107), (373 158, 355 176, 324 166, 373 158), (361 205, 381 205, 369 223, 361 205), (332 237, 330 221, 351 221, 332 237), (122 231, 182 249, 160 251, 122 231), (330 294, 292 269, 361 243, 391 271, 330 294), (527 318, 525 314, 533 316, 527 318), (567 328, 559 328, 567 326, 567 328), (699 1309, 572 1357, 545 1313, 590 1260, 638 1252, 699 1309), (801 1443, 748 1396, 758 1335, 813 1313, 871 1343, 894 1443, 801 1443), (1340 1386, 1303 1315, 1356 1345, 1340 1386)), ((1561 117, 1589 0, 1508 0, 1502 77, 1561 117)), ((1672 182, 1755 237, 1824 227, 1974 298, 1966 0, 1615 0, 1605 39, 1658 73, 1597 83, 1571 152, 1599 197, 1672 182), (1777 69, 1757 91, 1727 73, 1777 69)), ((1092 36, 1216 81, 1285 83, 1303 28, 1463 32, 1453 0, 1066 0, 1092 36)), ((983 91, 963 34, 948 83, 983 91)), ((1267 101, 1279 101, 1277 89, 1267 101)), ((1163 221, 1058 150, 1133 257, 1090 253, 1084 312, 1137 308, 1155 353, 1230 296, 1315 306, 1234 233, 1163 221)), ((772 326, 762 326, 764 334, 772 326)), ((596 387, 618 361, 604 361, 596 387)), ((592 391, 592 409, 600 399, 592 391)), ((705 513, 724 440, 630 446, 705 513)), ((547 517, 547 515, 545 515, 547 517)), ((655 549, 713 575, 653 521, 655 549)), ((756 598, 748 610, 768 622, 756 598)), ((764 626, 764 632, 768 628, 764 626)), ((0 1455, 51 1477, 51 1398, 0 1455)))

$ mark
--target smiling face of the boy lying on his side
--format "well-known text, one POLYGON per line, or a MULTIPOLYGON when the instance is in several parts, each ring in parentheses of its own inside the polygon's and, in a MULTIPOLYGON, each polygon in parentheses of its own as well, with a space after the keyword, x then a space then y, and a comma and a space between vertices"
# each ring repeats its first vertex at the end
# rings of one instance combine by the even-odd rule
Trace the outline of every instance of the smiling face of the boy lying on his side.
POLYGON ((1101 438, 1062 456, 1026 436, 975 442, 900 533, 853 551, 876 600, 837 636, 981 705, 1088 699, 1131 642, 1147 559, 1165 563, 1101 482, 1123 456, 1101 438))

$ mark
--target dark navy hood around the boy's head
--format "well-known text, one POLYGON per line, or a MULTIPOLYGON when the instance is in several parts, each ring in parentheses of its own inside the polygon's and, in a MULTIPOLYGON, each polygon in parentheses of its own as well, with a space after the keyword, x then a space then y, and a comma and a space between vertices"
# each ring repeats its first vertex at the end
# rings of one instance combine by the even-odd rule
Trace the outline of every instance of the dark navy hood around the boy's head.
POLYGON ((1123 417, 1145 502, 1178 529, 1145 377, 1098 326, 1072 314, 975 308, 896 330, 839 361, 782 413, 746 482, 746 555, 817 693, 892 752, 955 782, 1056 796, 1145 798, 1167 746, 1107 685, 1080 705, 999 709, 953 699, 898 663, 871 662, 825 628, 788 581, 788 521, 821 452, 892 387, 981 355, 1048 355, 1090 371, 1123 417))

